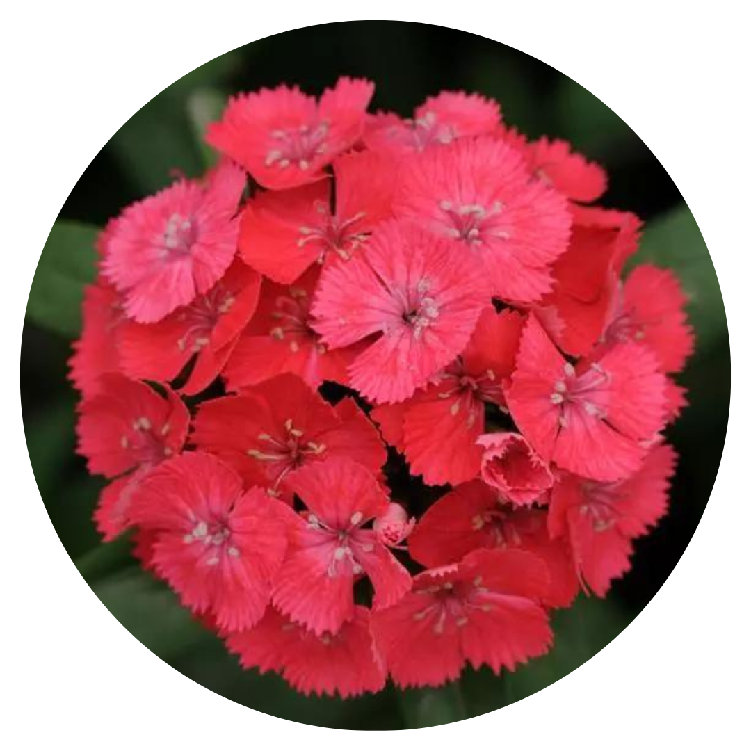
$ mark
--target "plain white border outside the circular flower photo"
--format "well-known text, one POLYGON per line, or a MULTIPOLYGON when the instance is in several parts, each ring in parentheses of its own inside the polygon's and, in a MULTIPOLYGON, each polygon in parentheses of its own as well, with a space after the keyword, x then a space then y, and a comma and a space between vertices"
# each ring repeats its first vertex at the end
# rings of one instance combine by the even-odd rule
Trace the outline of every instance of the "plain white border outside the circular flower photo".
MULTIPOLYGON (((748 373, 749 119, 740 3, 379 2, 391 20, 494 38, 553 65, 618 113, 677 183, 719 276, 733 370, 748 373), (413 3, 412 6, 418 4, 413 3), (422 4, 421 4, 422 5, 422 4), (695 6, 694 6, 695 7, 695 6), (415 11, 415 12, 409 12, 415 11)), ((168 668, 77 574, 44 511, 17 397, 23 313, 47 233, 80 174, 173 80, 257 38, 354 20, 353 3, 59 2, 2 20, 2 666, 8 749, 748 748, 749 397, 701 525, 671 578, 602 653, 559 683, 466 722, 345 735, 241 707, 168 668), (7 383, 6 383, 7 381, 7 383), (746 701, 744 701, 744 699, 746 701)), ((346 73, 347 71, 342 71, 346 73)), ((746 71, 747 74, 747 71, 746 71)), ((743 388, 741 388, 743 387, 743 388)))

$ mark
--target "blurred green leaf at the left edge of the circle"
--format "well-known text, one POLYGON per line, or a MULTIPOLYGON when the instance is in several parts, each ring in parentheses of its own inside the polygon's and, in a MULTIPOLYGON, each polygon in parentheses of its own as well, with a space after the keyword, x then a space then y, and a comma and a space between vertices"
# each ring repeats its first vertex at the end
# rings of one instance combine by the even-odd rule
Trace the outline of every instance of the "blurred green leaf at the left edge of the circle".
POLYGON ((71 339, 78 335, 83 287, 96 274, 97 234, 91 225, 55 222, 29 292, 26 315, 32 321, 71 339))

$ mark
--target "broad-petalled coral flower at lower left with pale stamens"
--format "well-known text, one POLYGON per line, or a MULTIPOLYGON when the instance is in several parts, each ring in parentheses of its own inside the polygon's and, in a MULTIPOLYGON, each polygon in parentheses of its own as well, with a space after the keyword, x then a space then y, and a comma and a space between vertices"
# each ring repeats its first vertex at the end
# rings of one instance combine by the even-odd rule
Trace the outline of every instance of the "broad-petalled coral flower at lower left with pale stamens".
POLYGON ((220 629, 248 629, 269 602, 287 548, 286 507, 194 451, 164 462, 139 484, 131 517, 155 532, 151 566, 196 614, 220 629))

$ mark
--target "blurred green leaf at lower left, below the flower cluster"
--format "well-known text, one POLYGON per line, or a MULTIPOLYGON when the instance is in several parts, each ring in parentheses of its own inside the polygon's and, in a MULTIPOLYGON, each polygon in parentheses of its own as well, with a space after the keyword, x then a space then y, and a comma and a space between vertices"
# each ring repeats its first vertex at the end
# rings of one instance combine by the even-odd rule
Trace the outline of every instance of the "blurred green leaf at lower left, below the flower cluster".
POLYGON ((162 659, 190 650, 207 635, 167 587, 135 567, 95 582, 92 590, 138 641, 162 659))

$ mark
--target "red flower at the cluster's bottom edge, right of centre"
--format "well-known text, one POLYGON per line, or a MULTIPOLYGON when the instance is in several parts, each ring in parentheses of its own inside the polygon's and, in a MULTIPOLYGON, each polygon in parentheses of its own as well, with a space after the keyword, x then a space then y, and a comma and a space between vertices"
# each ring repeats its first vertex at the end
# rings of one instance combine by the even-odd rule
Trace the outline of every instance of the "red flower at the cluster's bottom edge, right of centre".
POLYGON ((553 635, 540 605, 544 563, 519 550, 478 550, 415 577, 397 605, 372 614, 375 644, 394 683, 440 686, 469 662, 498 674, 547 652, 553 635))

